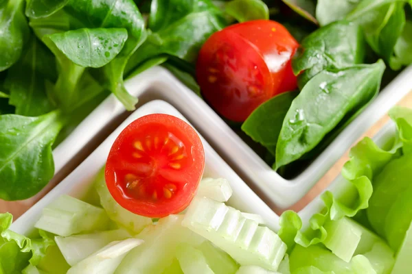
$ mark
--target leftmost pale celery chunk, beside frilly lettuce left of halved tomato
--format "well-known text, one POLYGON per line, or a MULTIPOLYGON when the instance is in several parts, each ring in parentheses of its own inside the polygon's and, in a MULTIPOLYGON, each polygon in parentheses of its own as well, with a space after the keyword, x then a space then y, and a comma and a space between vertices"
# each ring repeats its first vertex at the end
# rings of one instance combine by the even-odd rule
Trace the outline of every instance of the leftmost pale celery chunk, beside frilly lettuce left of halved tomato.
POLYGON ((102 208, 62 195, 43 209, 34 227, 58 236, 70 236, 107 229, 108 223, 108 216, 102 208))

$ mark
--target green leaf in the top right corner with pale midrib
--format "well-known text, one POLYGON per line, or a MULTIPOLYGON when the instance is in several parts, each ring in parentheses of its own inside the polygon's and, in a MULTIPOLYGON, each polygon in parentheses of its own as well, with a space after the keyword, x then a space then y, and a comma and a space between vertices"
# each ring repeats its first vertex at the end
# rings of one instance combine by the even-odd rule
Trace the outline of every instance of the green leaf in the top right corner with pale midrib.
POLYGON ((369 10, 355 19, 363 27, 371 48, 387 61, 393 55, 393 47, 404 28, 406 19, 403 7, 403 2, 394 1, 369 10))

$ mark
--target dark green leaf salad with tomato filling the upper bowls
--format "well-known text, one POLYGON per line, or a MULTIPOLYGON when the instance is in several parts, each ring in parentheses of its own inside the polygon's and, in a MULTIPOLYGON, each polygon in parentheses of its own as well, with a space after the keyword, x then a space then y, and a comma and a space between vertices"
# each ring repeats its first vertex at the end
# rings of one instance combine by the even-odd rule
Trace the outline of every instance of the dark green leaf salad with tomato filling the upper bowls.
POLYGON ((39 192, 108 94, 134 110, 124 79, 155 65, 297 175, 412 62, 410 1, 335 2, 0 1, 0 199, 39 192))

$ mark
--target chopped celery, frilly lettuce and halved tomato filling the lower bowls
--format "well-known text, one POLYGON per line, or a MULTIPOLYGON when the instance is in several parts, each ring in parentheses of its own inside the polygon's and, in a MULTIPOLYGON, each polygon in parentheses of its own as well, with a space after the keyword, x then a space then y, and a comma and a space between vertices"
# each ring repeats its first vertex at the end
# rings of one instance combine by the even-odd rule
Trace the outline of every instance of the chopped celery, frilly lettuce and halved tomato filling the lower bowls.
POLYGON ((52 201, 32 238, 0 214, 0 273, 410 273, 412 110, 390 116, 396 138, 384 148, 359 142, 345 191, 325 192, 308 228, 284 212, 278 233, 225 204, 227 180, 201 179, 203 146, 190 125, 143 116, 115 140, 93 193, 52 201))

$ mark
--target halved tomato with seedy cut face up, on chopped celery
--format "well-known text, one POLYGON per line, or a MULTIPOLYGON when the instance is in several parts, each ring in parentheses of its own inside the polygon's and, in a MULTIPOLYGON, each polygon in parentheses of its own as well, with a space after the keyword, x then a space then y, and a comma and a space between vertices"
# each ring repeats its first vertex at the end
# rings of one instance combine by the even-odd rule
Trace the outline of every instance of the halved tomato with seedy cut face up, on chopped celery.
POLYGON ((198 134, 179 118, 150 114, 117 137, 106 163, 106 184, 120 206, 160 218, 192 201, 205 168, 198 134))

